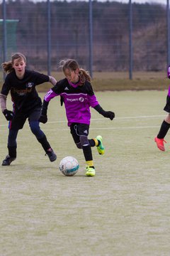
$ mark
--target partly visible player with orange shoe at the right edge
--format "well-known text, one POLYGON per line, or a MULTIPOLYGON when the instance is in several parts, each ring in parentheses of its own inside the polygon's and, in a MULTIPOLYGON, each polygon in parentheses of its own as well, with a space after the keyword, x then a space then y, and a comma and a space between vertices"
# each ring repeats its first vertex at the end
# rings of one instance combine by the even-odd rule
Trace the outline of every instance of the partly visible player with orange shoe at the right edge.
MULTIPOLYGON (((170 66, 168 68, 167 76, 170 79, 170 66)), ((157 143, 157 147, 162 151, 165 151, 164 142, 166 143, 166 141, 164 140, 164 137, 166 136, 170 127, 170 85, 169 85, 168 95, 166 97, 166 105, 164 107, 164 110, 168 112, 168 114, 165 117, 164 121, 162 122, 161 128, 159 130, 159 134, 157 134, 157 137, 154 138, 154 142, 157 143)))

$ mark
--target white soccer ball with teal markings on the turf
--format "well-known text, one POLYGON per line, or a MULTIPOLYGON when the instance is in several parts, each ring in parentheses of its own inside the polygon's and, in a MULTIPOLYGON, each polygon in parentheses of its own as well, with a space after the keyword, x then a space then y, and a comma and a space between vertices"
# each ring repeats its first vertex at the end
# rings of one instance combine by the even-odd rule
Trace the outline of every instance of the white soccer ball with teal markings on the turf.
POLYGON ((79 163, 73 156, 66 156, 60 161, 59 169, 65 176, 73 176, 79 170, 79 163))

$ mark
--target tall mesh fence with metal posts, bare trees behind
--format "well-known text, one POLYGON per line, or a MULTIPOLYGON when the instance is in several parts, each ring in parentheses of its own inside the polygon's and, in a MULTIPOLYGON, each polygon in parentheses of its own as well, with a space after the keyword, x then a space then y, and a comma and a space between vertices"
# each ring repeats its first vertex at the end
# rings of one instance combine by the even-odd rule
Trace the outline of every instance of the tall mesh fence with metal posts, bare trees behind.
MULTIPOLYGON (((169 64, 169 0, 1 1, 0 60, 20 51, 28 68, 50 75, 62 58, 90 71, 165 70, 169 64)), ((2 70, 1 70, 2 72, 2 70)))

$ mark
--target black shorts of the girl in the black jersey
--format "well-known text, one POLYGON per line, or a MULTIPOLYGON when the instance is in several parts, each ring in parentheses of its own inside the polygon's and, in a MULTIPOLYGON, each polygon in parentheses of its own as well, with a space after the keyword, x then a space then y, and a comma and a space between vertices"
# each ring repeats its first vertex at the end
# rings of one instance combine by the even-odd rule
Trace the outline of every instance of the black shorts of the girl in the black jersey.
POLYGON ((38 121, 40 117, 41 107, 35 107, 35 109, 27 114, 23 112, 16 112, 13 119, 9 122, 8 128, 9 129, 22 129, 23 125, 28 118, 29 122, 38 121))

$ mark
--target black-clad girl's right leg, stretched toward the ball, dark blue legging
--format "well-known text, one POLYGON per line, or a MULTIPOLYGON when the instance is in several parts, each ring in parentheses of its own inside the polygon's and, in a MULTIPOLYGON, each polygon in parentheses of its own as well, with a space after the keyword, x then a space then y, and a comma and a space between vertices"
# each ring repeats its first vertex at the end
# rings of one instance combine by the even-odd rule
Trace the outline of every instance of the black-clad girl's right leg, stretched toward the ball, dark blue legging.
POLYGON ((40 123, 38 122, 38 118, 40 117, 40 108, 36 109, 29 115, 28 121, 30 125, 31 132, 35 135, 36 139, 42 145, 42 148, 45 150, 45 153, 49 157, 50 161, 55 161, 57 156, 53 151, 50 143, 47 141, 47 137, 44 132, 40 129, 40 123))

